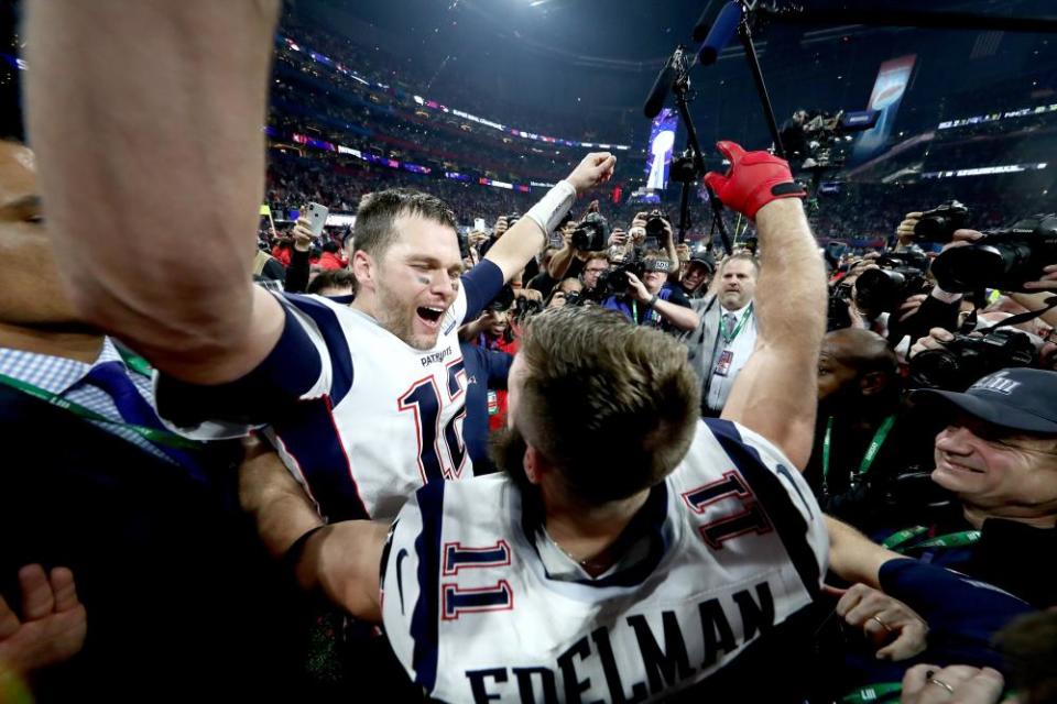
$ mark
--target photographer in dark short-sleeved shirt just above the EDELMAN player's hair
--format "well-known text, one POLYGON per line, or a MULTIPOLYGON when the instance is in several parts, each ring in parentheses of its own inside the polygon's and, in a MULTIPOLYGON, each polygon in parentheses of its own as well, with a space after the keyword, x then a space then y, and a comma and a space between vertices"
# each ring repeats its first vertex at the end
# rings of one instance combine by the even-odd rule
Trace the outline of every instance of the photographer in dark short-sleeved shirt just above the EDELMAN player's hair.
POLYGON ((665 332, 697 328, 700 318, 690 308, 690 301, 677 286, 667 283, 668 272, 675 266, 673 261, 653 251, 646 252, 640 264, 642 279, 625 271, 628 292, 610 296, 602 301, 602 307, 621 311, 635 324, 665 332))

